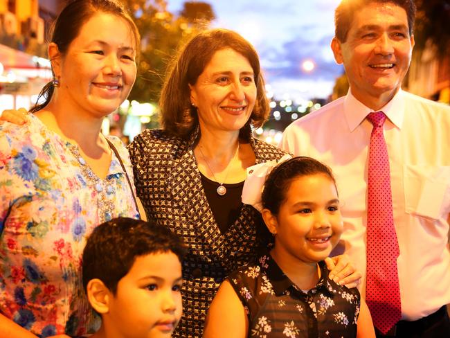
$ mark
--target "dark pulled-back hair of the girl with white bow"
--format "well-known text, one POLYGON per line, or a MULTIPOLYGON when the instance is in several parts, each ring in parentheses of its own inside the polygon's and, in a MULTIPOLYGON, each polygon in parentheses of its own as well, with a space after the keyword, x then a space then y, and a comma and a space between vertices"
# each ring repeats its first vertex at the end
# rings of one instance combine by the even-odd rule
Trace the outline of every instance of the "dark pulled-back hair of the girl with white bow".
POLYGON ((329 177, 336 185, 332 170, 311 157, 294 157, 278 164, 264 184, 262 207, 269 209, 273 215, 278 215, 281 204, 285 202, 291 181, 298 177, 316 174, 329 177))

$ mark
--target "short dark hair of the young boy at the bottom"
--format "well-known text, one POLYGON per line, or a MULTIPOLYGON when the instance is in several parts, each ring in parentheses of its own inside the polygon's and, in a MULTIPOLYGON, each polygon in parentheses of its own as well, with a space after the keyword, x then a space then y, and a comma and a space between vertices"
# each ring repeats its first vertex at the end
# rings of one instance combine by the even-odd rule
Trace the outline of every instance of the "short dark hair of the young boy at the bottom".
POLYGON ((180 262, 186 247, 178 235, 165 226, 118 217, 93 230, 83 251, 83 286, 93 278, 105 283, 113 294, 131 269, 136 257, 172 251, 180 262))

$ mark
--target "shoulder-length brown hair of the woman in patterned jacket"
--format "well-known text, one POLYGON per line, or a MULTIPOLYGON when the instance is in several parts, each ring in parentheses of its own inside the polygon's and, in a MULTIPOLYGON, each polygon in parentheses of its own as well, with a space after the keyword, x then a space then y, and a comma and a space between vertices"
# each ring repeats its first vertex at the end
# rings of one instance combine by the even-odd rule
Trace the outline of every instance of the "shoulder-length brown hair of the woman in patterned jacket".
MULTIPOLYGON (((164 130, 186 139, 197 127, 197 108, 191 105, 189 85, 197 82, 213 55, 224 48, 231 48, 246 57, 253 69, 257 97, 249 123, 260 127, 267 120, 269 103, 255 48, 233 30, 211 29, 195 35, 170 64, 159 100, 164 130)), ((249 128, 249 123, 244 128, 249 128)))

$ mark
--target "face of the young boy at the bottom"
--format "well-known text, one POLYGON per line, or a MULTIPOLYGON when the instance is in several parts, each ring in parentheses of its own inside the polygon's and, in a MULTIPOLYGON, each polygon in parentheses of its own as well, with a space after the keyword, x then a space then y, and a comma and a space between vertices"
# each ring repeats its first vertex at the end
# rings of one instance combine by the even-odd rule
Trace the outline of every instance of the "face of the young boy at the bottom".
MULTIPOLYGON (((181 263, 172 251, 136 258, 117 285, 107 322, 114 337, 170 337, 181 317, 181 263)), ((105 320, 105 315, 104 315, 105 320)))

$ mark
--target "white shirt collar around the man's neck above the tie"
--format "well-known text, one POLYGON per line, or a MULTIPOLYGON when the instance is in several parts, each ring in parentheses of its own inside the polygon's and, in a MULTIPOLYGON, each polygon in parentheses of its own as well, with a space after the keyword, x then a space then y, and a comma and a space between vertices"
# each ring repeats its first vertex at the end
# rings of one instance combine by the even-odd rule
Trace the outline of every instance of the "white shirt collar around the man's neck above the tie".
MULTIPOLYGON (((348 94, 344 99, 344 115, 350 132, 353 132, 364 121, 366 116, 372 112, 372 109, 363 105, 353 96, 351 89, 348 90, 348 94)), ((399 88, 392 100, 384 107, 381 107, 378 112, 384 112, 388 119, 397 128, 401 129, 405 112, 404 92, 402 89, 399 88)))

